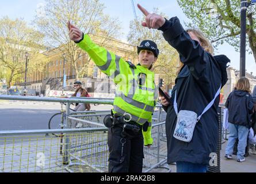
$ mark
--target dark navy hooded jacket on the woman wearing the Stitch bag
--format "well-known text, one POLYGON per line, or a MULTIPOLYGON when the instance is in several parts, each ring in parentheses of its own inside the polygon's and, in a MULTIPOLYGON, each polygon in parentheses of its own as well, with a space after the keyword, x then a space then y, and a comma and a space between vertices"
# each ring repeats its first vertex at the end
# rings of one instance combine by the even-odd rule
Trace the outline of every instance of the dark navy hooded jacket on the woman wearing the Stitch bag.
MULTIPOLYGON (((174 101, 177 91, 179 110, 192 110, 199 116, 205 107, 212 101, 220 85, 227 82, 226 65, 230 60, 224 56, 215 58, 190 38, 185 32, 177 17, 166 20, 159 30, 168 43, 177 49, 184 67, 179 72, 171 94, 174 101)), ((217 108, 219 97, 213 106, 202 115, 194 128, 190 143, 177 140, 173 137, 177 116, 173 104, 163 107, 166 112, 167 162, 190 162, 209 164, 209 155, 217 150, 218 116, 217 108)))

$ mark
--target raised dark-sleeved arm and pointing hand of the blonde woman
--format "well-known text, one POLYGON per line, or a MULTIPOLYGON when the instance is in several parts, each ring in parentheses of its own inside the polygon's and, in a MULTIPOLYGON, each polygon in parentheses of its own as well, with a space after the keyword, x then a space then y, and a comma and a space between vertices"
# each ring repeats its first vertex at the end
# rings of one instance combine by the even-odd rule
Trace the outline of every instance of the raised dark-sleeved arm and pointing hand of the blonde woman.
POLYGON ((194 78, 200 81, 209 81, 209 70, 215 68, 211 68, 212 63, 209 62, 209 57, 212 56, 204 51, 198 41, 191 39, 178 18, 173 17, 170 20, 166 20, 157 14, 148 13, 140 5, 138 7, 146 16, 146 21, 142 23, 142 26, 162 30, 165 40, 177 49, 181 62, 189 67, 190 73, 194 78))

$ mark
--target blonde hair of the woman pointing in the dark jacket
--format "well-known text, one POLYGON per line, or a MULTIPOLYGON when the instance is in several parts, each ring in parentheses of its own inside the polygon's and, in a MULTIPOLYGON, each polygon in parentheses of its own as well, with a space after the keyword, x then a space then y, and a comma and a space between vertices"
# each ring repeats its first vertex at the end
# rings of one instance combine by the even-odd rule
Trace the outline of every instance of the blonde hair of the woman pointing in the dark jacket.
MULTIPOLYGON (((192 32, 194 33, 194 35, 196 37, 198 37, 202 48, 204 48, 205 51, 211 53, 213 55, 214 49, 212 47, 212 44, 210 43, 210 41, 207 39, 207 37, 204 36, 204 34, 197 29, 187 29, 186 32, 192 32)), ((181 68, 184 66, 184 64, 179 60, 179 64, 177 66, 177 75, 179 74, 179 72, 181 71, 181 68)))

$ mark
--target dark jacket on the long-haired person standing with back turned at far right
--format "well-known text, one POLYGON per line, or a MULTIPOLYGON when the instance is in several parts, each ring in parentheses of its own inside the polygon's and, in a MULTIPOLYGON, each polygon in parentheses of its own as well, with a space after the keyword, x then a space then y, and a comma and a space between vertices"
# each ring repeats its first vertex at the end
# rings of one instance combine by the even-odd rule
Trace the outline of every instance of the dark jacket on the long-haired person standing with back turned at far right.
POLYGON ((228 95, 225 106, 228 108, 228 122, 251 127, 253 113, 253 98, 250 93, 234 90, 228 95))

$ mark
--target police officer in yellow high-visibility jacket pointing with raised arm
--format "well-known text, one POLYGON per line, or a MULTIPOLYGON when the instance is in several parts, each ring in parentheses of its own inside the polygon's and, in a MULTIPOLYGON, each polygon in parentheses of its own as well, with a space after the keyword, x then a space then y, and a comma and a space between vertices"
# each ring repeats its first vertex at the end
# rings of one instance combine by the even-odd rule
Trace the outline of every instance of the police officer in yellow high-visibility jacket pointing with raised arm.
POLYGON ((158 88, 154 83, 154 72, 150 70, 159 54, 157 45, 151 40, 142 41, 137 47, 139 64, 135 66, 93 43, 88 34, 83 34, 70 22, 68 29, 70 39, 86 51, 98 68, 117 85, 112 116, 104 120, 109 127, 109 172, 141 173, 143 138, 144 145, 153 143, 152 113, 158 99, 158 88))

